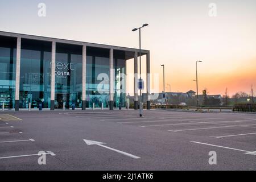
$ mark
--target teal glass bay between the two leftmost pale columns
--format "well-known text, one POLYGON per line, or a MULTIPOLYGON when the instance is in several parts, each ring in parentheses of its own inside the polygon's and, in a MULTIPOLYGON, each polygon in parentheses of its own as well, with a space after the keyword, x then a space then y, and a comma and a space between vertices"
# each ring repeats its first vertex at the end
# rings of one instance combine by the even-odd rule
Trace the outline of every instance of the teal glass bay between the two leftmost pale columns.
POLYGON ((51 42, 22 39, 20 52, 19 107, 51 107, 51 42))

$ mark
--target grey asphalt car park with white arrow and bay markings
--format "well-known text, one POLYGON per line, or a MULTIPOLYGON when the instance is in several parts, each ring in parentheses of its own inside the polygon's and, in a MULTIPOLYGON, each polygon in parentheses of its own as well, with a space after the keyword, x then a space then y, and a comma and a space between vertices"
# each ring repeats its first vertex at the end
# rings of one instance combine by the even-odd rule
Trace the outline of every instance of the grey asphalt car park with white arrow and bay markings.
POLYGON ((1 170, 256 170, 256 114, 0 113, 1 170), (43 151, 46 165, 40 165, 43 151), (209 152, 217 164, 209 164, 209 152))

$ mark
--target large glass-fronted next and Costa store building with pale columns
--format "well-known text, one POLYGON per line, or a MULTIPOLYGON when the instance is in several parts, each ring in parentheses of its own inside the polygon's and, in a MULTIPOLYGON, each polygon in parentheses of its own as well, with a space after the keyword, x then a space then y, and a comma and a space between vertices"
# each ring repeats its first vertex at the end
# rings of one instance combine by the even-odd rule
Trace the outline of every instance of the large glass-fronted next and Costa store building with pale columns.
MULTIPOLYGON (((30 106, 46 110, 73 106, 85 110, 102 104, 110 110, 125 107, 126 61, 133 59, 138 73, 138 52, 146 56, 149 74, 148 50, 0 31, 0 106, 17 111, 30 106), (102 75, 109 79, 104 88, 102 75)), ((145 84, 150 85, 148 81, 145 84)), ((136 95, 133 102, 138 104, 136 95)))

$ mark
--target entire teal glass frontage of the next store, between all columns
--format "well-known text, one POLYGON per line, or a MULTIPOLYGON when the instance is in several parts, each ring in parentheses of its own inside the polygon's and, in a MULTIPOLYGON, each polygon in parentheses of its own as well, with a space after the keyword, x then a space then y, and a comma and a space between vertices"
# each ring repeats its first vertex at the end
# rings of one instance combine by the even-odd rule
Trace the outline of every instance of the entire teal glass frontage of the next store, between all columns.
MULTIPOLYGON (((16 83, 17 38, 0 36, 0 108, 71 109, 82 102, 82 46, 56 42, 55 89, 51 89, 52 42, 21 39, 19 92, 16 83), (15 103, 15 90, 19 102, 15 103), (54 107, 51 92, 55 92, 54 107)), ((113 51, 114 107, 126 106, 126 60, 134 52, 113 51)), ((110 49, 86 47, 86 107, 110 107, 110 49)), ((111 103, 112 104, 112 103, 111 103)), ((112 105, 113 106, 113 105, 112 105)), ((111 108, 112 108, 111 106, 111 108)))

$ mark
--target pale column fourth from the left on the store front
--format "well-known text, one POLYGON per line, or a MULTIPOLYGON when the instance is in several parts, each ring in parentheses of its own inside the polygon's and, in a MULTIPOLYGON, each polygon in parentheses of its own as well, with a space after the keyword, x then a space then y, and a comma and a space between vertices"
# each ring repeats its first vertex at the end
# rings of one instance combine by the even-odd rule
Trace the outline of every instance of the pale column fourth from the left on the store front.
POLYGON ((114 49, 109 52, 109 109, 114 109, 114 49))

